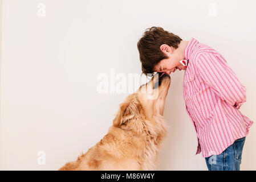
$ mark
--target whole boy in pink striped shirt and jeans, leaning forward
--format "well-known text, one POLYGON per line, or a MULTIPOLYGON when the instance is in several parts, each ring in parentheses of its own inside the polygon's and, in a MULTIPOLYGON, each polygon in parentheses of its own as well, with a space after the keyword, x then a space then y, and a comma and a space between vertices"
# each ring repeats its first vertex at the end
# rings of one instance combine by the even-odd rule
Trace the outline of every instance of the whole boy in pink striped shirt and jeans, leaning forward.
POLYGON ((161 27, 148 28, 137 43, 143 73, 185 70, 186 112, 197 133, 197 152, 209 170, 239 170, 253 121, 239 111, 246 88, 213 48, 182 40, 161 27))

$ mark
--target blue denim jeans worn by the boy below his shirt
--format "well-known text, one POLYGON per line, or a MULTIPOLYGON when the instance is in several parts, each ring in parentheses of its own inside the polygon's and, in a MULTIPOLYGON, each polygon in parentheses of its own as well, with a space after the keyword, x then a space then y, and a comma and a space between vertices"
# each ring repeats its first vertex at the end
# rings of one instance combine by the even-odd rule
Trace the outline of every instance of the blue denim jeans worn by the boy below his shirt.
POLYGON ((219 155, 205 158, 209 171, 239 171, 245 137, 234 141, 219 155))

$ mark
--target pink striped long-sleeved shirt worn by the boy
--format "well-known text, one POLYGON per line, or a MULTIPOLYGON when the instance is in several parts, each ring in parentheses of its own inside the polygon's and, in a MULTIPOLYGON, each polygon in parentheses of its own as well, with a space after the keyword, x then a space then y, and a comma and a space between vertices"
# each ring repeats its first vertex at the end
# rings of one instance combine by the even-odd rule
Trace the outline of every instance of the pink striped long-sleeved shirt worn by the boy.
POLYGON ((197 152, 204 158, 221 154, 245 137, 253 121, 237 109, 246 101, 246 88, 213 48, 192 38, 184 51, 188 60, 183 80, 186 112, 197 132, 197 152))

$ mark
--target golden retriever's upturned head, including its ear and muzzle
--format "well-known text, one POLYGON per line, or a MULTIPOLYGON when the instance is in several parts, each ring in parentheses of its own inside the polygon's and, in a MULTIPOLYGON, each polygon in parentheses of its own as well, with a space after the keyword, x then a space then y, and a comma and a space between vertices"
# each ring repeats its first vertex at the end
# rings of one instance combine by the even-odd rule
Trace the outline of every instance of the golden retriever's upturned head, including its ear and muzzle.
POLYGON ((134 117, 142 119, 163 115, 165 98, 170 86, 170 76, 166 73, 157 73, 147 84, 141 85, 133 94, 120 104, 119 111, 113 119, 114 126, 129 121, 134 117))

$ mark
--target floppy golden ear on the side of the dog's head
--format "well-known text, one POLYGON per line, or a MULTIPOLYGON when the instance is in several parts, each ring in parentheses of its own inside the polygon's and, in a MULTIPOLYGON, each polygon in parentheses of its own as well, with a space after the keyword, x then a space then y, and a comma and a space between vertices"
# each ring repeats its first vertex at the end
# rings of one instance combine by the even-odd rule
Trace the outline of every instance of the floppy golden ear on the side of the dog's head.
POLYGON ((141 104, 134 96, 128 96, 122 104, 115 119, 113 119, 113 126, 120 126, 121 124, 132 119, 136 114, 140 114, 141 104))

